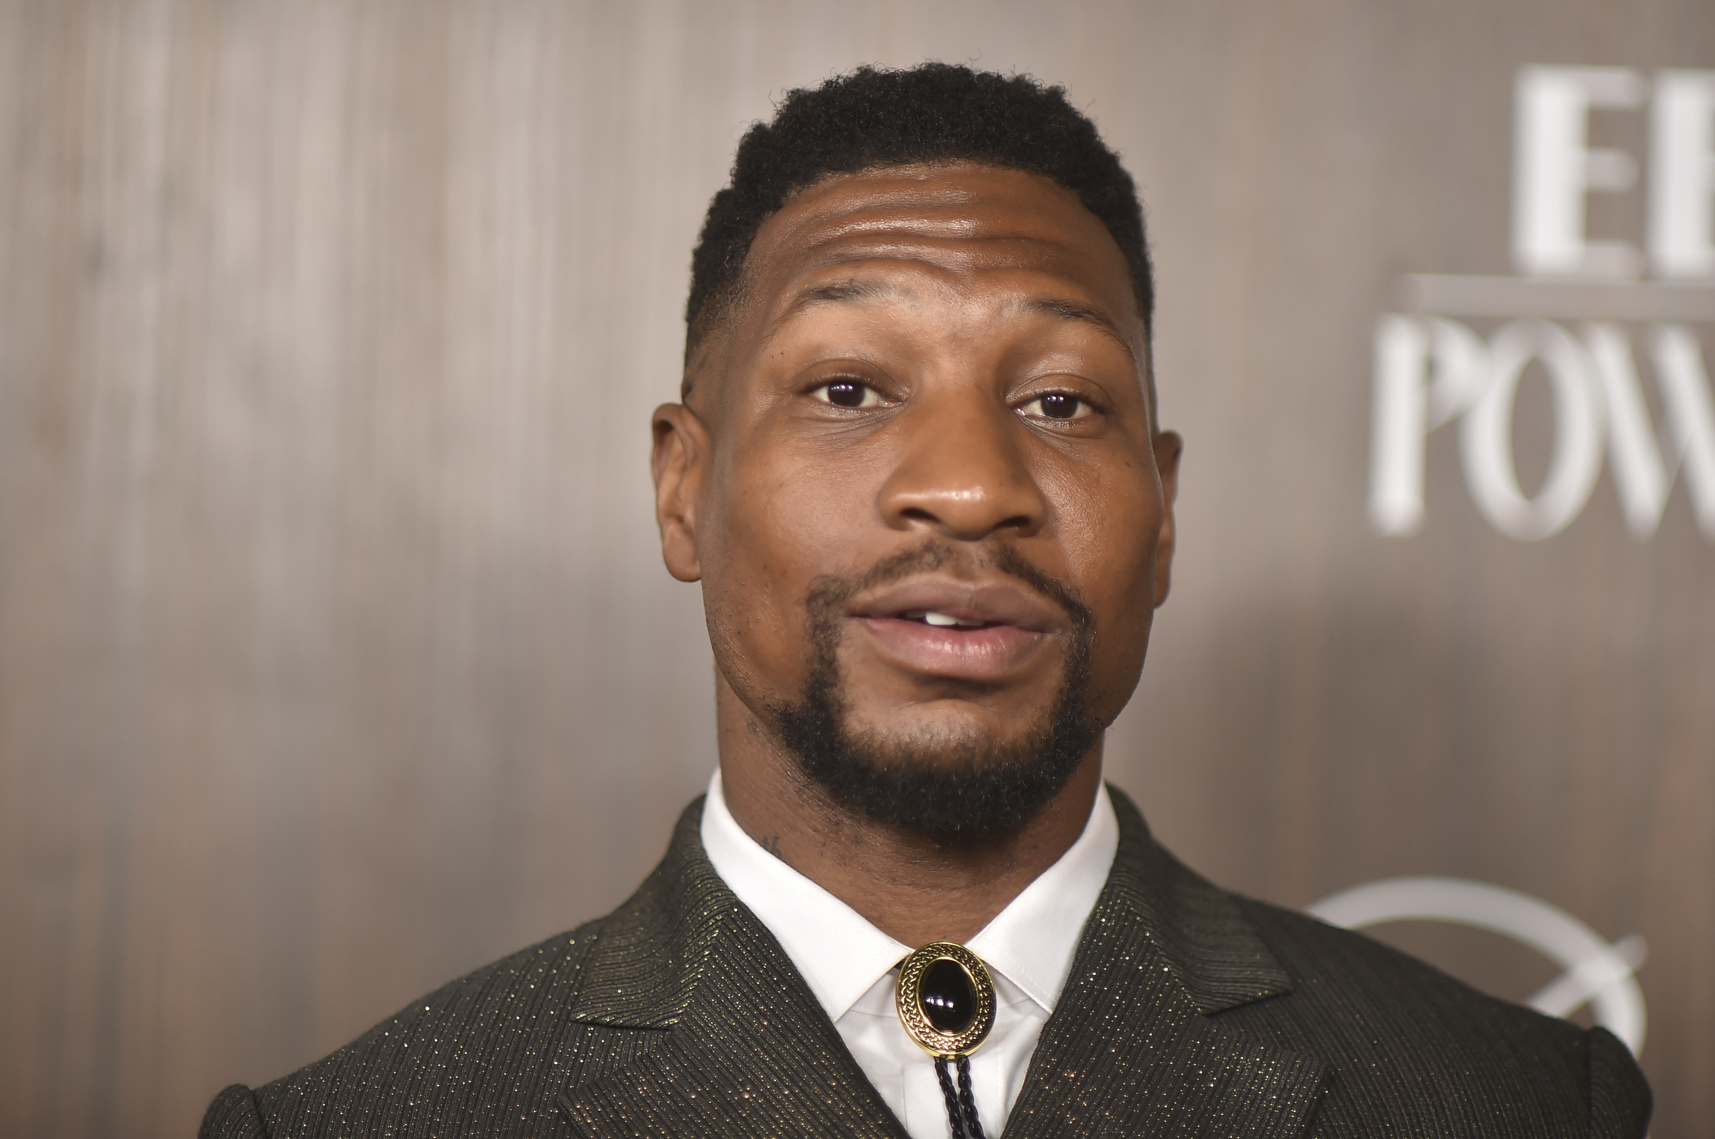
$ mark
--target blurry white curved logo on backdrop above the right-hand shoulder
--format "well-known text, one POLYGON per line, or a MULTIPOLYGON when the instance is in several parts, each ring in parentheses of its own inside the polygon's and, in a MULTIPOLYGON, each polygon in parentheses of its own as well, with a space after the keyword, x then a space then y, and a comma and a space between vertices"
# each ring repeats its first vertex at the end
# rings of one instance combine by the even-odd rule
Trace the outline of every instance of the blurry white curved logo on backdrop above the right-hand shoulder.
POLYGON ((1307 913, 1362 930, 1387 921, 1453 921, 1490 930, 1547 954, 1566 971, 1525 1004, 1569 1016, 1590 1002, 1597 1024, 1643 1053, 1643 992, 1633 973, 1646 945, 1633 933, 1609 944, 1588 925, 1540 897, 1466 879, 1382 879, 1329 894, 1307 913))

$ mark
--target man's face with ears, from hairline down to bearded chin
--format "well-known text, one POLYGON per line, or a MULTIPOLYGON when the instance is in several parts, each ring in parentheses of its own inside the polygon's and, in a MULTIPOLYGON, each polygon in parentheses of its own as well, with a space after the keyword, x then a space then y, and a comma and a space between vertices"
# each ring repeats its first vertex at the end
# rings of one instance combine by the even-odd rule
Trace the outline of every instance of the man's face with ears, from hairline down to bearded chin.
POLYGON ((655 423, 667 564, 753 719, 906 786, 1056 731, 1082 759, 1166 596, 1147 368, 1125 259, 1046 178, 880 170, 770 218, 691 413, 655 423))

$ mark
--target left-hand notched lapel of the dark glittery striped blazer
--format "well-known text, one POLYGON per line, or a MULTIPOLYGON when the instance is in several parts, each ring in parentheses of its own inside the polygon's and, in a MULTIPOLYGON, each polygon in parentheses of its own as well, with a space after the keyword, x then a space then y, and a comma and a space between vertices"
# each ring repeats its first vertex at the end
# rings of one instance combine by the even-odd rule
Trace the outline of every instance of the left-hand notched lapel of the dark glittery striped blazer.
POLYGON ((585 1136, 906 1139, 772 933, 698 839, 701 800, 667 858, 609 918, 573 1019, 662 1041, 559 1101, 585 1136))

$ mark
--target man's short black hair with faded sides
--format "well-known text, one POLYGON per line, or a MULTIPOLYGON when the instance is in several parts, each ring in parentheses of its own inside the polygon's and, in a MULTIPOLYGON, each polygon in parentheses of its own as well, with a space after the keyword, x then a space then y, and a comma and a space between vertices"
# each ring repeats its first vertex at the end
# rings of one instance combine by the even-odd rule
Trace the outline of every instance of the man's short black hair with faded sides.
POLYGON ((708 204, 691 253, 686 361, 732 300, 756 231, 792 194, 828 175, 957 161, 1041 175, 1075 194, 1125 255, 1149 332, 1154 277, 1137 185, 1065 87, 954 63, 859 67, 787 92, 773 122, 739 142, 732 183, 708 204))

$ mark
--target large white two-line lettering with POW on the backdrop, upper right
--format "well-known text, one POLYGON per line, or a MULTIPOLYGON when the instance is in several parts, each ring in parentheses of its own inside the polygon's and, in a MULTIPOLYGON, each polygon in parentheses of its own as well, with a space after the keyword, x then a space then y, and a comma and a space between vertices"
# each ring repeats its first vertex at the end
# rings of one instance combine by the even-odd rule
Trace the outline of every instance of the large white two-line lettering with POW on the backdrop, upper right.
POLYGON ((1655 533, 1684 480, 1715 541, 1715 397, 1696 334, 1715 324, 1715 70, 1525 67, 1514 115, 1519 276, 1408 274, 1406 312, 1377 322, 1370 522, 1382 534, 1423 524, 1425 440, 1458 420, 1466 486, 1502 534, 1537 540, 1571 524, 1605 452, 1633 534, 1655 533), (1588 195, 1640 176, 1626 151, 1588 146, 1598 108, 1648 115, 1643 248, 1586 236, 1588 195), (1461 319, 1502 324, 1483 337, 1461 319), (1554 450, 1528 495, 1513 408, 1531 361, 1552 391, 1554 450))

